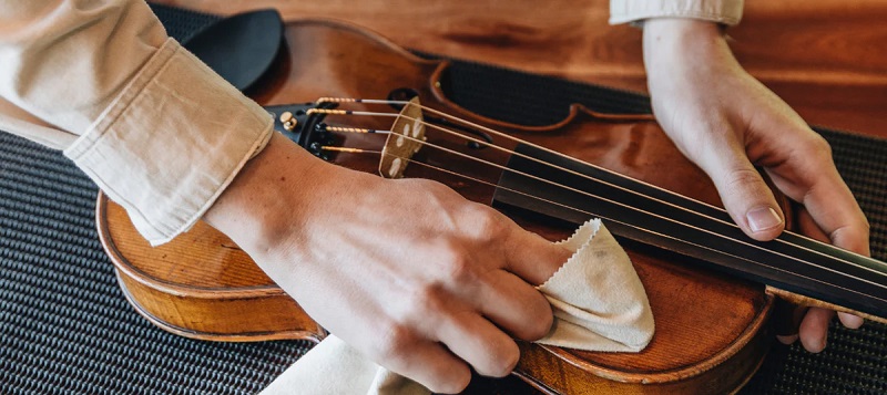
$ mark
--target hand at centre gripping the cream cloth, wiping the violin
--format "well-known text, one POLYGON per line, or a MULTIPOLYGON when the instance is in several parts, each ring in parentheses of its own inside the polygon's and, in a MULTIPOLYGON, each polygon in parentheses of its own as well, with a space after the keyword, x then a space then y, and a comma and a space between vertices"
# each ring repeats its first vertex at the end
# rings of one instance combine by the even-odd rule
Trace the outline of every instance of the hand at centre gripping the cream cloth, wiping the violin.
POLYGON ((424 179, 389 180, 275 135, 205 219, 332 333, 435 392, 518 362, 552 323, 544 282, 570 252, 424 179))

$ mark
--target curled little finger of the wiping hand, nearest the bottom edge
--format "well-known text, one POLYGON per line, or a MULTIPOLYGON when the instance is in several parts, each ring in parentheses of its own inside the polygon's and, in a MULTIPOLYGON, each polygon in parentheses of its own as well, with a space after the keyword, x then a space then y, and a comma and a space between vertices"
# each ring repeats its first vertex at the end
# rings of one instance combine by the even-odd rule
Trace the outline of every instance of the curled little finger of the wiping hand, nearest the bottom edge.
POLYGON ((419 342, 410 344, 396 357, 383 358, 381 364, 410 378, 434 393, 456 394, 468 386, 471 370, 440 343, 419 342))

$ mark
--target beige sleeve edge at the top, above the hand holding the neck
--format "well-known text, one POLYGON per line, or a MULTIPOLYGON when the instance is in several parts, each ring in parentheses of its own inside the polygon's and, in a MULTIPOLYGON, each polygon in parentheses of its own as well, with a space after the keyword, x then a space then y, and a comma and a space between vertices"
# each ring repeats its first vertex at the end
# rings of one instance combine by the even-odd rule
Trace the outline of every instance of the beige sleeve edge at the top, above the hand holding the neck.
POLYGON ((743 0, 610 0, 610 23, 675 17, 734 25, 742 19, 743 2, 743 0))

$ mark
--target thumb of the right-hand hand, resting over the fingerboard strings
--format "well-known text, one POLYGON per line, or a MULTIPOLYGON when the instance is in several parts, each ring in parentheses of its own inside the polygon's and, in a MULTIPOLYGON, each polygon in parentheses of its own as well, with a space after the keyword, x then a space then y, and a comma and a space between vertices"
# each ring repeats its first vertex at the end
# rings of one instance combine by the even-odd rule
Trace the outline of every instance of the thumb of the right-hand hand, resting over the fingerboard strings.
POLYGON ((695 160, 712 178, 730 216, 751 238, 767 241, 785 229, 773 191, 735 141, 721 141, 695 160))

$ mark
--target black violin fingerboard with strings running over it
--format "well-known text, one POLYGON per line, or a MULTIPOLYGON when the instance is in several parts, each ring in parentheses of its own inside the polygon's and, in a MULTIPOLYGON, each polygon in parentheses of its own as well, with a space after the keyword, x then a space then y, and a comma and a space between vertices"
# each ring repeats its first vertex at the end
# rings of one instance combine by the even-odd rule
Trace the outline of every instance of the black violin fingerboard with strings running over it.
POLYGON ((520 145, 493 204, 572 224, 593 217, 615 235, 717 270, 887 318, 887 264, 789 231, 748 238, 721 208, 532 145, 520 145), (533 175, 528 177, 524 175, 533 175))

